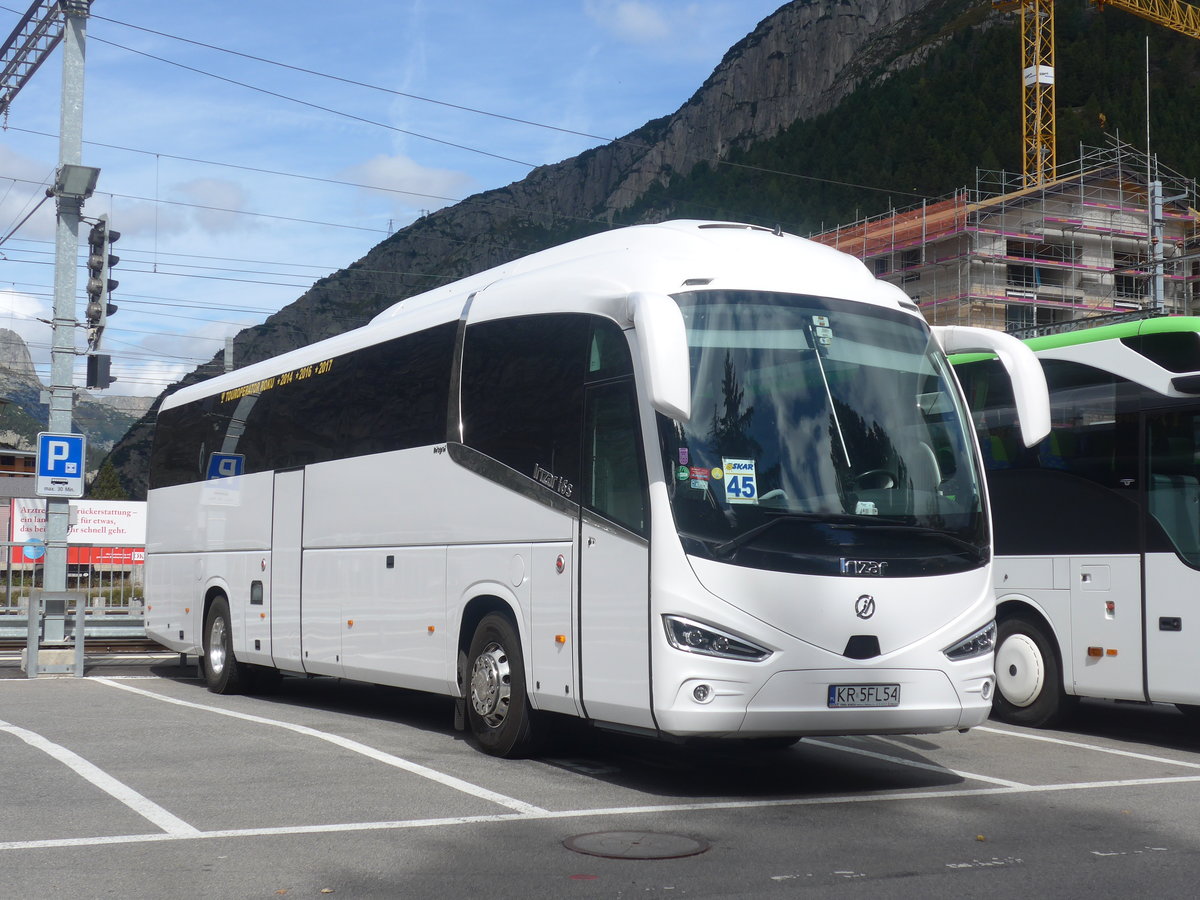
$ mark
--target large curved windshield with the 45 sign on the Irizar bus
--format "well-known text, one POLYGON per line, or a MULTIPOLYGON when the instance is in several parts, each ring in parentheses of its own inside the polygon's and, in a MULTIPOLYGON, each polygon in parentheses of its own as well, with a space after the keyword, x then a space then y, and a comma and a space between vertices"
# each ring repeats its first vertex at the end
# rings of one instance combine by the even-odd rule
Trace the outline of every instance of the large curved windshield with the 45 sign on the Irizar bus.
POLYGON ((988 562, 970 420, 919 319, 794 294, 676 300, 692 412, 660 415, 659 437, 689 553, 892 577, 988 562))

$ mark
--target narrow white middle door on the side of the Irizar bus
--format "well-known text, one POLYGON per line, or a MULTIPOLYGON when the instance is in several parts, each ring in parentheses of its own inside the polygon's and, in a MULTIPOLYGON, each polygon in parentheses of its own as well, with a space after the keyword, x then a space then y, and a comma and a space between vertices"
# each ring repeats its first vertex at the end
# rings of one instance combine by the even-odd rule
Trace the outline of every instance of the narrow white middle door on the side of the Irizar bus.
POLYGON ((300 559, 304 536, 304 469, 275 474, 275 504, 271 514, 271 556, 268 572, 270 592, 263 610, 251 608, 258 618, 266 613, 270 650, 280 668, 304 671, 300 660, 300 559))

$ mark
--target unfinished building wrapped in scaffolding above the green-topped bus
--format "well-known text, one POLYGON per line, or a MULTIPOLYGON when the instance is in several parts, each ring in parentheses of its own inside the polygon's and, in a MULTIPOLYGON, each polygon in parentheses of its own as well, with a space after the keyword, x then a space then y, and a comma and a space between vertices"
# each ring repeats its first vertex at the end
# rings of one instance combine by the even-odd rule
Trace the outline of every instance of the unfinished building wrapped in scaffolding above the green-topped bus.
POLYGON ((976 187, 815 236, 899 284, 938 325, 1006 331, 1124 312, 1200 314, 1196 181, 1128 144, 1057 178, 976 187))

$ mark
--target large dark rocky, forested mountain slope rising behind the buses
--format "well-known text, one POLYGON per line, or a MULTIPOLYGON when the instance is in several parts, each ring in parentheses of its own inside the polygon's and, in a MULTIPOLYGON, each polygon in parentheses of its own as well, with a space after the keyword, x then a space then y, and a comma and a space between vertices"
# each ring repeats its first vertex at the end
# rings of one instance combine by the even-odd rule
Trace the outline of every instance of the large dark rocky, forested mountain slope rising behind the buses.
MULTIPOLYGON (((1019 170, 1016 16, 985 0, 786 4, 674 113, 414 222, 239 334, 235 358, 248 365, 340 334, 413 294, 614 226, 688 216, 805 234, 973 184, 976 167, 1019 170)), ((1105 130, 1145 133, 1146 34, 1157 150, 1200 172, 1188 127, 1200 41, 1080 0, 1057 10, 1060 162, 1105 130)), ((131 497, 145 494, 155 413, 110 455, 131 497)))

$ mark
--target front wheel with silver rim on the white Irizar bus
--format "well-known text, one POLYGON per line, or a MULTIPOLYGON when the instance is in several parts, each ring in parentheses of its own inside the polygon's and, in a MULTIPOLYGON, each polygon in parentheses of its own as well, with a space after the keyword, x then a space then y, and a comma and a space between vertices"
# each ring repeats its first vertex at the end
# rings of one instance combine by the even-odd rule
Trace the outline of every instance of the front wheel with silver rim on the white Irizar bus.
POLYGON ((521 638, 512 622, 488 613, 467 654, 467 725, 479 748, 508 760, 533 749, 533 713, 526 691, 521 638))

